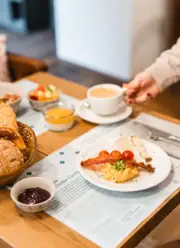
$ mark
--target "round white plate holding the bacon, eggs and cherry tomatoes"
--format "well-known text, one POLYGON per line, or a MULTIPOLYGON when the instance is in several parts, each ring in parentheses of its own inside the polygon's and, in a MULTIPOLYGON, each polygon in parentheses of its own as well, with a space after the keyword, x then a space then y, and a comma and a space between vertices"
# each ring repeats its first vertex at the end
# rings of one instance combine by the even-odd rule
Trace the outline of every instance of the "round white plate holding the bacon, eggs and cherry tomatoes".
POLYGON ((140 172, 139 177, 136 177, 134 180, 117 184, 106 181, 94 171, 83 168, 80 165, 80 162, 82 160, 86 160, 90 157, 96 157, 101 150, 107 150, 111 152, 112 150, 117 149, 117 147, 114 146, 115 140, 111 139, 97 142, 96 144, 88 147, 86 151, 82 152, 77 159, 78 170, 87 181, 94 184, 95 186, 107 190, 119 192, 134 192, 157 186, 170 174, 171 161, 168 155, 157 145, 146 140, 142 140, 142 142, 149 156, 153 159, 151 163, 152 166, 155 168, 155 172, 152 174, 147 172, 140 172))

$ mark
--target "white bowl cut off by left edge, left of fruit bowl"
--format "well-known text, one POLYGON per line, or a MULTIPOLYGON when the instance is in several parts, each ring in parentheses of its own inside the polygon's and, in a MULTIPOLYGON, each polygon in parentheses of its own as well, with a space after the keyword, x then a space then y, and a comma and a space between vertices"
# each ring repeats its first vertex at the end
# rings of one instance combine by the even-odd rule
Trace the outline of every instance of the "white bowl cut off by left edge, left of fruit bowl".
POLYGON ((10 106, 13 108, 14 112, 16 113, 19 109, 21 99, 23 97, 23 94, 19 86, 13 83, 6 83, 6 82, 0 83, 0 98, 3 97, 5 94, 15 94, 20 96, 19 99, 17 99, 16 101, 10 104, 10 106))

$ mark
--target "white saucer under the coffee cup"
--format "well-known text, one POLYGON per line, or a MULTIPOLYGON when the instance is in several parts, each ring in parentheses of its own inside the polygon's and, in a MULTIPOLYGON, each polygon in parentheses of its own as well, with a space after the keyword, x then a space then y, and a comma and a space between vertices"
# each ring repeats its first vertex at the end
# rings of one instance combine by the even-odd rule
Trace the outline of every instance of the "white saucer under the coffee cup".
POLYGON ((113 124, 120 122, 128 118, 132 113, 132 107, 122 104, 120 109, 113 115, 100 116, 95 114, 91 108, 85 107, 85 100, 80 101, 76 106, 76 113, 85 121, 92 122, 94 124, 113 124))

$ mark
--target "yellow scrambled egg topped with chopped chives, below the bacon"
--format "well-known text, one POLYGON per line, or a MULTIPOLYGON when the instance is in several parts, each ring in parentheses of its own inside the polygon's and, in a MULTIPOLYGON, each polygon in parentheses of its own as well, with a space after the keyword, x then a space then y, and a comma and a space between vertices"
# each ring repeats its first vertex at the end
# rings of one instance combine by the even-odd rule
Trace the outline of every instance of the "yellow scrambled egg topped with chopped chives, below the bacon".
POLYGON ((123 183, 129 181, 139 175, 137 168, 123 168, 116 170, 111 164, 106 163, 102 169, 102 175, 105 180, 114 183, 123 183))

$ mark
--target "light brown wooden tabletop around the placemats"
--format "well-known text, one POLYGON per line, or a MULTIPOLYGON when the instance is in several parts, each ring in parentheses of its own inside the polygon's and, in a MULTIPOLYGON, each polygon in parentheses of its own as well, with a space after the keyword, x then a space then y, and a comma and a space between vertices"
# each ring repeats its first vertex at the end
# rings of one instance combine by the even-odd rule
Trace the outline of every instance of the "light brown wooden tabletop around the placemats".
MULTIPOLYGON (((77 85, 64 79, 51 76, 47 73, 37 73, 27 79, 39 84, 54 84, 73 97, 83 99, 86 96, 86 87, 77 85)), ((136 107, 134 116, 142 111, 136 107)), ((152 112, 157 117, 179 123, 180 120, 170 116, 152 112)), ((67 144, 76 137, 92 129, 94 125, 77 118, 77 125, 65 133, 46 132, 38 136, 37 161, 53 151, 67 144), (47 142, 53 140, 53 142, 47 142)), ((180 202, 180 189, 174 192, 156 209, 147 219, 125 239, 119 248, 133 248, 138 244, 160 221, 166 217, 180 202)), ((12 243, 16 248, 92 248, 95 244, 80 236, 64 224, 40 213, 27 215, 18 211, 9 198, 8 190, 0 192, 0 235, 12 243)))

